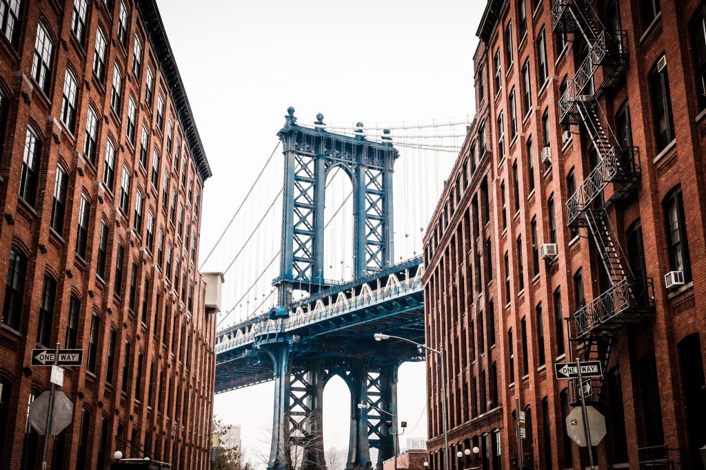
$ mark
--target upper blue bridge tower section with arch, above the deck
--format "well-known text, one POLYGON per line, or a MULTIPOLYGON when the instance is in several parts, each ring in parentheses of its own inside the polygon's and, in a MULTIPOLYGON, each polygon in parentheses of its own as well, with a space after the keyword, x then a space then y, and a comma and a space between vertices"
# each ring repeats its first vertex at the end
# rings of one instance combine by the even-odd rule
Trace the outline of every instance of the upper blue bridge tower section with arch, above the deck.
POLYGON ((321 113, 314 128, 298 125, 292 107, 285 119, 277 133, 285 156, 285 187, 280 276, 273 285, 278 303, 288 309, 292 290, 315 293, 330 287, 324 273, 323 215, 326 178, 334 168, 345 171, 353 185, 354 277, 392 264, 392 177, 399 154, 389 137, 366 140, 362 123, 349 137, 325 130, 321 113))

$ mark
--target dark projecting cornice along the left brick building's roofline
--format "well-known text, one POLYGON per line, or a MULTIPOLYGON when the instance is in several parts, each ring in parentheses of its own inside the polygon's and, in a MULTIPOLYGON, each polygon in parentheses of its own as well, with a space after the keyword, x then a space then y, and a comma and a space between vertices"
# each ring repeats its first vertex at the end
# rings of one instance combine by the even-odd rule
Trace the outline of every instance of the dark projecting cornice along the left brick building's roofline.
POLYGON ((166 30, 164 30, 164 23, 162 22, 162 16, 160 16, 160 10, 157 8, 157 1, 137 0, 136 4, 152 44, 152 49, 154 49, 157 61, 159 61, 164 81, 167 82, 169 94, 172 97, 172 104, 175 111, 177 111, 177 117, 184 132, 184 140, 189 145, 191 158, 196 163, 201 180, 205 181, 213 173, 211 173, 210 165, 203 150, 203 143, 196 128, 189 97, 186 96, 184 82, 181 80, 177 61, 172 53, 172 46, 169 44, 166 30))

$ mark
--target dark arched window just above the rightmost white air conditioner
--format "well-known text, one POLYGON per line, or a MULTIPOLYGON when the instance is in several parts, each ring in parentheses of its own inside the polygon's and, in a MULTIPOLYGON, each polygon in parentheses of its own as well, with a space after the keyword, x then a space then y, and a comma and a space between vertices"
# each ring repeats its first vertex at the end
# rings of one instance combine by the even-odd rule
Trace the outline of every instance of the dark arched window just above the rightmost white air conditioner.
POLYGON ((685 282, 691 280, 691 261, 686 238, 686 218, 681 186, 675 187, 662 201, 664 223, 666 224, 666 244, 669 254, 669 269, 683 271, 685 282))

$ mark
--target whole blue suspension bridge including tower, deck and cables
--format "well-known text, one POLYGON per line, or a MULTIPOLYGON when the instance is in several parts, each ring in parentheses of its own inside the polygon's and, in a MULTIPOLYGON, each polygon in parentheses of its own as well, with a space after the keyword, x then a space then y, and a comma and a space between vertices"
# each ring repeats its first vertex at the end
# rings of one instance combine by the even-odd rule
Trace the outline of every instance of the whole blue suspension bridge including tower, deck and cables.
POLYGON ((298 123, 287 110, 277 144, 201 264, 224 273, 229 306, 218 323, 216 392, 274 382, 268 468, 287 466, 294 438, 315 443, 303 445, 301 466, 325 467, 323 388, 334 376, 351 393, 350 422, 341 423, 350 430, 347 468, 381 468, 393 456, 376 408, 396 414, 397 369, 424 354, 373 333, 424 342, 418 253, 467 125, 365 128, 327 125, 321 114, 298 123))

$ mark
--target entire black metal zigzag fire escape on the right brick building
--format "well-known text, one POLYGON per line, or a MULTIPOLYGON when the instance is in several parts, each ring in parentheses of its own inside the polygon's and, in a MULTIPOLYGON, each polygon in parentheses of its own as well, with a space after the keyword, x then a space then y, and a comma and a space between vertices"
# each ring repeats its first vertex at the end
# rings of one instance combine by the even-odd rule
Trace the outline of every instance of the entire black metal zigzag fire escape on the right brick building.
MULTIPOLYGON (((588 0, 556 0, 551 8, 555 33, 573 34, 587 43, 587 56, 559 99, 558 110, 561 124, 585 131, 597 159, 566 202, 566 218, 572 228, 587 228, 609 287, 570 315, 569 331, 580 359, 601 361, 605 372, 618 330, 650 315, 653 300, 652 280, 631 276, 607 213, 612 204, 634 194, 640 181, 638 149, 623 148, 612 132, 606 133, 609 121, 598 101, 626 72, 626 32, 606 30, 592 17, 597 18, 588 0)), ((570 400, 577 402, 582 392, 587 401, 599 402, 603 383, 603 378, 573 381, 570 400)))

